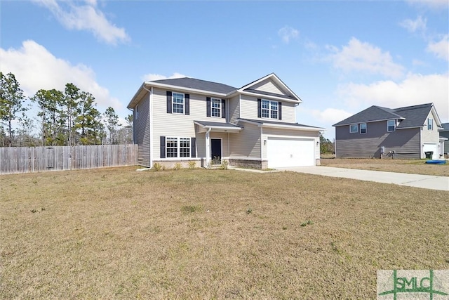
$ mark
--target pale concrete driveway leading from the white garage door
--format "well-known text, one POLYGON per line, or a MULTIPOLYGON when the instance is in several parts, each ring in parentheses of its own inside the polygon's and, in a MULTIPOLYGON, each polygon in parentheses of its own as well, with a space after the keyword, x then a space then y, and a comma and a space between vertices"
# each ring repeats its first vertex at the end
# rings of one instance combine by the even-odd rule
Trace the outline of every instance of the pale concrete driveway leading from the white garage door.
POLYGON ((295 171, 300 173, 331 176, 331 177, 351 178, 363 181, 394 183, 398 185, 413 186, 415 188, 428 188, 430 190, 449 191, 449 177, 443 176, 343 169, 343 168, 321 167, 321 166, 277 168, 277 169, 282 171, 295 171))

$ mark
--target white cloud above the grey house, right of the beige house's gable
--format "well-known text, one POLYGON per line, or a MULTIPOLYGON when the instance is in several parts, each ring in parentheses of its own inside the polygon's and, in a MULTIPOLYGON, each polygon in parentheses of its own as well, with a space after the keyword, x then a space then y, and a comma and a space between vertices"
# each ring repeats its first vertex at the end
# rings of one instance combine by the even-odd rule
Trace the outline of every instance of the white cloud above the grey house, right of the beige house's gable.
POLYGON ((341 50, 335 46, 327 48, 335 52, 329 56, 333 66, 344 72, 369 72, 392 78, 403 75, 404 67, 394 63, 389 52, 382 52, 382 49, 354 37, 341 50))

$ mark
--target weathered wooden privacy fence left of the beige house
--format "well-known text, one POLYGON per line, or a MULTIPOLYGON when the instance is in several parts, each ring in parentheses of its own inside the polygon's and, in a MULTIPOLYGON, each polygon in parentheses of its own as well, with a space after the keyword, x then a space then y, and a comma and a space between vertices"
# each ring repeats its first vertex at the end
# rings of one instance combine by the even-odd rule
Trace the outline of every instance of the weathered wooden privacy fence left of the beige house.
POLYGON ((0 148, 0 174, 94 169, 138 164, 138 145, 0 148))

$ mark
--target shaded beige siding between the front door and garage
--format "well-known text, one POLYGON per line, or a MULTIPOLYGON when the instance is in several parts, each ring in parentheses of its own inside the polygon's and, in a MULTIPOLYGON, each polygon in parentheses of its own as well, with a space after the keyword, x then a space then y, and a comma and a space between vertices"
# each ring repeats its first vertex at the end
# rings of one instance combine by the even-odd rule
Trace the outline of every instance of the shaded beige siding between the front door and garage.
POLYGON ((231 133, 231 157, 260 159, 260 127, 239 122, 243 129, 240 133, 231 133))

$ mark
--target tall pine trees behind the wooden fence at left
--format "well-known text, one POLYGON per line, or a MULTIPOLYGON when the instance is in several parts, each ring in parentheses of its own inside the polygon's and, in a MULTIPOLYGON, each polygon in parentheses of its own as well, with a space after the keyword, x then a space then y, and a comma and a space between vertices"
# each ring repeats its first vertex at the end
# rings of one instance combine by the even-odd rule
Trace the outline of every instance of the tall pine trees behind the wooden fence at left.
POLYGON ((15 75, 0 72, 0 84, 0 147, 133 143, 133 115, 122 126, 114 108, 101 113, 95 97, 72 83, 29 97, 37 107, 32 117, 15 75))

